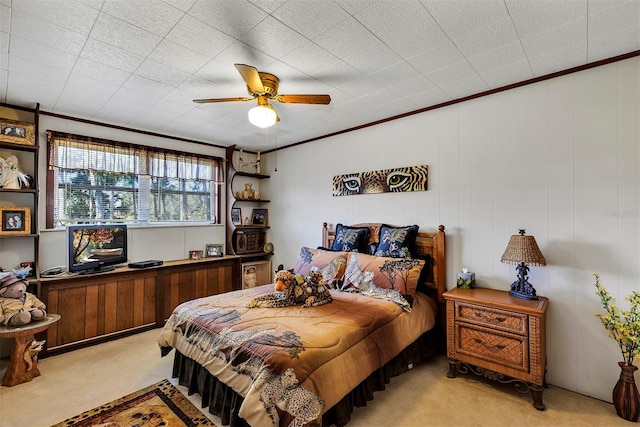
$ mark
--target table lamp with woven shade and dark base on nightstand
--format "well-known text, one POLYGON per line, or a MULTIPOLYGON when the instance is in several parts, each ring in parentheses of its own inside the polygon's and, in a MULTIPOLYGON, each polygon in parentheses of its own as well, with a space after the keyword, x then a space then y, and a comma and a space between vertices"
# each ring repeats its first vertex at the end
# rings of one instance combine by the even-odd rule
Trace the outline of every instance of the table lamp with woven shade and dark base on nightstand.
POLYGON ((518 280, 511 284, 509 295, 524 299, 538 299, 536 290, 529 283, 527 272, 529 265, 545 266, 547 260, 544 259, 536 239, 533 236, 525 236, 525 230, 520 229, 520 234, 511 236, 507 249, 502 254, 501 262, 507 264, 518 264, 518 280))

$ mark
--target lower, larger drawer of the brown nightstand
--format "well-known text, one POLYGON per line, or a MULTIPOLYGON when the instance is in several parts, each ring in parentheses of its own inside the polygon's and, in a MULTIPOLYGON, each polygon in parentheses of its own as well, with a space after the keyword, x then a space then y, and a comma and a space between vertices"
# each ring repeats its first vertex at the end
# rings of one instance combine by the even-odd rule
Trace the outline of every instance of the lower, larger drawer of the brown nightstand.
POLYGON ((529 371, 527 337, 481 328, 463 322, 455 325, 456 357, 467 355, 493 364, 529 371))

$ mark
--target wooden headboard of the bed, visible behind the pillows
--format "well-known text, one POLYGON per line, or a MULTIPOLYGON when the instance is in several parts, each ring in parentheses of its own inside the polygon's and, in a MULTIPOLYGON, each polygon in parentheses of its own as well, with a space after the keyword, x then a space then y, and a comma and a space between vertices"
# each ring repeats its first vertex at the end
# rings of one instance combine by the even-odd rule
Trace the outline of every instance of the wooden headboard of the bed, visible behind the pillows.
MULTIPOLYGON (((378 243, 378 232, 382 223, 378 222, 363 222, 360 224, 350 224, 350 227, 369 227, 371 231, 369 233, 369 243, 378 243)), ((446 263, 445 263, 445 251, 444 251, 444 225, 438 226, 436 232, 419 231, 416 238, 416 250, 419 254, 428 254, 433 260, 431 267, 433 269, 432 277, 433 283, 427 283, 429 288, 436 290, 438 295, 438 302, 444 304, 444 294, 447 291, 447 275, 446 275, 446 263)), ((328 224, 324 222, 322 224, 322 246, 330 248, 333 245, 333 241, 336 237, 336 230, 334 228, 328 228, 328 224)))

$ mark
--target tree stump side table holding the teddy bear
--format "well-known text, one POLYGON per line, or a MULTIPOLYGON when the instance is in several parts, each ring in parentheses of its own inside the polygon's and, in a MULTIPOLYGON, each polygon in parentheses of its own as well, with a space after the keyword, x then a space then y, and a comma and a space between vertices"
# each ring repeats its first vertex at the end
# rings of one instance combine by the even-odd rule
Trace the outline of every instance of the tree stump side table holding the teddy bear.
POLYGON ((13 387, 31 381, 40 376, 38 369, 38 351, 32 349, 35 334, 46 331, 49 326, 60 320, 59 314, 47 314, 44 320, 34 321, 25 326, 0 326, 0 338, 13 338, 13 350, 9 367, 2 379, 2 385, 13 387))

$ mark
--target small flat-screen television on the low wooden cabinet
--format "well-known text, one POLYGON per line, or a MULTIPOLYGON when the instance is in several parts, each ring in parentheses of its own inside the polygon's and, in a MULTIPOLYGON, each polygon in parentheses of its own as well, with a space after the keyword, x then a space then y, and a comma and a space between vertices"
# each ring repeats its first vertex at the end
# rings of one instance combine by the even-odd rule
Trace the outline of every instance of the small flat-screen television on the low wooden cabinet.
POLYGON ((69 273, 92 274, 111 271, 128 261, 127 226, 83 224, 67 226, 69 273))

